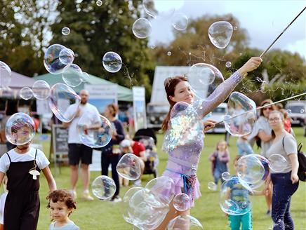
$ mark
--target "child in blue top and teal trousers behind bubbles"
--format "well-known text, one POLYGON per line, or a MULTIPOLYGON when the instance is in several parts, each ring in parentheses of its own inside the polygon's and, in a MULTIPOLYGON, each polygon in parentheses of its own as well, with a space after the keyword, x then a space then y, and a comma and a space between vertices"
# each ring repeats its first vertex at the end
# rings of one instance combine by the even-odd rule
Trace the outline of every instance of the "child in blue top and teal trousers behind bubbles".
MULTIPOLYGON (((237 155, 234 158, 234 169, 236 171, 237 174, 237 170, 239 167, 244 167, 243 165, 238 165, 238 160, 239 158, 241 158, 241 155, 237 155)), ((241 170, 241 168, 240 168, 241 170)), ((241 184, 239 184, 239 186, 233 185, 232 187, 228 188, 229 191, 229 198, 232 201, 235 201, 237 204, 239 204, 239 202, 244 202, 246 203, 244 208, 249 208, 248 204, 251 202, 249 201, 249 194, 251 195, 264 195, 265 191, 255 191, 252 190, 252 193, 250 191, 248 191, 248 189, 244 188, 241 186, 241 184)), ((241 205, 243 206, 243 205, 241 205)), ((239 206, 240 207, 240 206, 239 206)), ((252 212, 251 212, 251 208, 248 212, 246 212, 243 215, 228 215, 228 219, 230 222, 230 228, 232 230, 239 230, 240 229, 240 225, 241 225, 241 229, 242 230, 252 230, 253 226, 252 226, 252 212)))

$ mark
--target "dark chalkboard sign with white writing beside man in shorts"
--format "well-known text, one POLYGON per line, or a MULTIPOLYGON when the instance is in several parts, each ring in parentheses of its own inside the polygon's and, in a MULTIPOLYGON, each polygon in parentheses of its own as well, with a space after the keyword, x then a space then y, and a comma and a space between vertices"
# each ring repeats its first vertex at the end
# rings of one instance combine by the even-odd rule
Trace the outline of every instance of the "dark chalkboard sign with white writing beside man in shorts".
POLYGON ((62 125, 52 126, 53 153, 68 154, 68 128, 62 125))

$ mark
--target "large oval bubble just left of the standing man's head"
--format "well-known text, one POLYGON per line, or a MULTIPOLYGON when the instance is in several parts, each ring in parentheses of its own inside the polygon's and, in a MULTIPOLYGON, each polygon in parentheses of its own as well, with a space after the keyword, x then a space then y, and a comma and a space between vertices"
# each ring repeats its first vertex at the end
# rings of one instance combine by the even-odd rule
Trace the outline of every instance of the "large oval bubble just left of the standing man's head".
POLYGON ((79 109, 81 97, 72 88, 64 83, 56 83, 51 87, 51 94, 48 104, 53 114, 62 122, 70 122, 74 119, 76 111, 79 109), (66 113, 69 105, 72 106, 72 113, 66 113))

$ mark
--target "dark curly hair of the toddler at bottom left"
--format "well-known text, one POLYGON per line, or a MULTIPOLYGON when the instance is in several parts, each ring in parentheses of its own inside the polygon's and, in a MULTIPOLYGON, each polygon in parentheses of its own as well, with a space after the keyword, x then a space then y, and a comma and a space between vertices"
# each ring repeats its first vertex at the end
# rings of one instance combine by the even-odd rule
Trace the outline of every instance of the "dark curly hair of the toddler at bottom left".
MULTIPOLYGON (((47 196, 47 200, 49 200, 47 208, 50 208, 50 201, 53 203, 56 203, 58 201, 64 202, 65 205, 67 205, 68 209, 76 209, 76 202, 74 201, 74 198, 72 194, 69 193, 66 189, 57 189, 54 191, 51 191, 49 196, 47 196)), ((71 212, 69 213, 69 215, 71 212)))

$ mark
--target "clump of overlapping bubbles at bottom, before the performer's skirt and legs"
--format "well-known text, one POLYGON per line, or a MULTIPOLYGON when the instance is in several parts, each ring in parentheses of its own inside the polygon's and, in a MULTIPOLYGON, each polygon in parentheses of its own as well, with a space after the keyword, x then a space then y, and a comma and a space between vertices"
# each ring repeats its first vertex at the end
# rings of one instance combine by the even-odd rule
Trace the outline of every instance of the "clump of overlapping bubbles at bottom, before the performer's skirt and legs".
MULTIPOLYGON (((176 210, 187 210, 190 207, 189 196, 174 193, 174 182, 170 177, 157 177, 147 182, 145 187, 133 187, 124 195, 122 215, 126 222, 139 229, 156 229, 163 222, 169 204, 173 201, 176 210)), ((199 226, 201 223, 189 215, 175 217, 168 224, 168 229, 178 229, 185 224, 199 226), (179 224, 179 225, 178 225, 179 224)))

